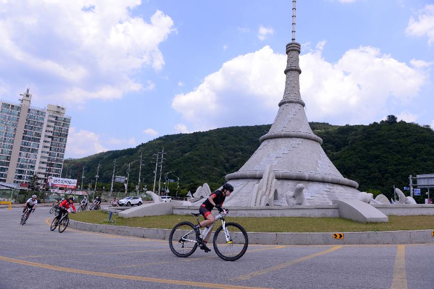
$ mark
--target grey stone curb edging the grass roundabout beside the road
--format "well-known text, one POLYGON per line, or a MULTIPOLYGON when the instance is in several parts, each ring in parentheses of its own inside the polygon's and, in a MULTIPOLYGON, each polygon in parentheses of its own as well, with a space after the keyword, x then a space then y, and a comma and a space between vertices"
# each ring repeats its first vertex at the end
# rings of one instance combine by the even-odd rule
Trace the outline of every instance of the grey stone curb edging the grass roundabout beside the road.
MULTIPOLYGON (((70 220, 77 230, 109 233, 130 237, 168 240, 170 229, 149 229, 100 225, 70 220)), ((248 232, 249 244, 262 245, 366 245, 366 244, 434 244, 433 230, 338 232, 343 239, 333 239, 335 233, 261 233, 248 232)))

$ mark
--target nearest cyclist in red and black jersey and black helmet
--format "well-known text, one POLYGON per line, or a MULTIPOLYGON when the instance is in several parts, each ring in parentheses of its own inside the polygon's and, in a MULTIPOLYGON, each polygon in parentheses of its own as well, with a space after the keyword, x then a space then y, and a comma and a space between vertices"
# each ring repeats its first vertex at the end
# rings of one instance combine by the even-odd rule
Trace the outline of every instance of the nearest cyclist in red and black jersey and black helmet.
MULTIPOLYGON (((211 194, 211 196, 208 197, 208 199, 205 200, 204 203, 202 203, 199 207, 199 213, 204 216, 205 221, 202 221, 199 223, 199 225, 194 226, 194 231, 196 234, 200 234, 200 228, 206 227, 211 225, 216 221, 216 218, 213 216, 211 211, 214 207, 218 209, 219 212, 221 212, 223 209, 221 208, 223 206, 224 199, 228 196, 230 196, 230 193, 234 192, 234 187, 230 185, 230 183, 225 183, 220 190, 215 191, 211 194)), ((210 248, 207 247, 207 242, 210 239, 211 231, 206 235, 204 239, 205 245, 203 248, 200 249, 205 250, 205 252, 211 251, 210 248)))

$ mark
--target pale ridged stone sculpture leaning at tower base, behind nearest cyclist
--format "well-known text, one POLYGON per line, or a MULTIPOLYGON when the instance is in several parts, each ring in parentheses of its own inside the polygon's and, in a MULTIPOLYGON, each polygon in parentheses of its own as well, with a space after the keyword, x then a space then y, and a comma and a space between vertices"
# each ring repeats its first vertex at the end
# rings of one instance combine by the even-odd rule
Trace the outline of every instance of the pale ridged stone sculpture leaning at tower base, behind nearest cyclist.
POLYGON ((253 188, 250 206, 274 206, 274 191, 276 187, 276 177, 274 176, 271 166, 265 169, 262 179, 253 188))

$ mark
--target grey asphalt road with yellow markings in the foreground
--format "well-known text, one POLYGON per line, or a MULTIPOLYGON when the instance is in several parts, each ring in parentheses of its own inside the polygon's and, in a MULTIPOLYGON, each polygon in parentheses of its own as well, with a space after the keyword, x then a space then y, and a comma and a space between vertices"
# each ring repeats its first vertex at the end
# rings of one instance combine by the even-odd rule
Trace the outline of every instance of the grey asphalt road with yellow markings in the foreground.
POLYGON ((50 231, 48 211, 21 226, 20 208, 0 209, 0 288, 434 288, 434 244, 249 245, 234 262, 201 250, 179 258, 164 240, 50 231))

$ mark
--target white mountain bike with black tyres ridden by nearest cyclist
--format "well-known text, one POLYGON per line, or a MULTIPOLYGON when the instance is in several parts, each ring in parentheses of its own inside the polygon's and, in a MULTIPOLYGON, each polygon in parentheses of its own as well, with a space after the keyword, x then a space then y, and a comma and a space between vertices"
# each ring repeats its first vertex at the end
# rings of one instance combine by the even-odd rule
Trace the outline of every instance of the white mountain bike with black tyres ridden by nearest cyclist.
MULTIPOLYGON (((216 216, 216 221, 221 220, 221 226, 214 232, 213 247, 217 255, 226 261, 235 261, 241 258, 247 250, 249 239, 246 230, 237 223, 226 223, 224 217, 229 213, 223 209, 216 216)), ((197 219, 199 224, 200 214, 191 213, 197 219)), ((181 222, 177 224, 170 232, 169 246, 173 254, 178 257, 188 257, 199 247, 205 247, 204 239, 213 229, 215 222, 208 228, 196 235, 194 225, 190 222, 181 222)))

